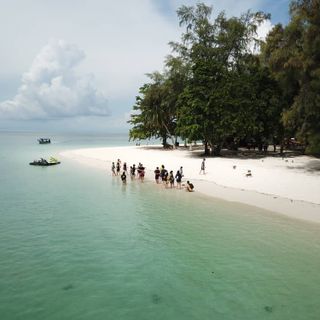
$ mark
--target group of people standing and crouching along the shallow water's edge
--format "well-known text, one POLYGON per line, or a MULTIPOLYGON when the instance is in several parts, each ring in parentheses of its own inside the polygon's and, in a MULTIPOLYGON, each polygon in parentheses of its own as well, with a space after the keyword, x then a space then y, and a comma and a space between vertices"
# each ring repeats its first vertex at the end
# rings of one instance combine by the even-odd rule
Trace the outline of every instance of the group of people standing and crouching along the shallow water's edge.
MULTIPOLYGON (((113 176, 120 176, 122 182, 124 184, 127 183, 128 167, 126 162, 122 164, 120 159, 118 159, 116 163, 112 162, 111 171, 113 176)), ((138 177, 138 179, 143 182, 145 176, 145 167, 140 162, 137 167, 135 164, 133 164, 130 166, 129 173, 131 179, 138 177)), ((185 186, 187 191, 194 191, 194 186, 190 181, 187 181, 185 185, 182 185, 183 167, 180 167, 180 169, 177 170, 176 174, 174 175, 172 170, 168 171, 164 165, 161 165, 160 168, 156 167, 154 174, 156 183, 159 184, 161 181, 166 188, 174 188, 176 182, 177 189, 182 189, 182 186, 185 186)))

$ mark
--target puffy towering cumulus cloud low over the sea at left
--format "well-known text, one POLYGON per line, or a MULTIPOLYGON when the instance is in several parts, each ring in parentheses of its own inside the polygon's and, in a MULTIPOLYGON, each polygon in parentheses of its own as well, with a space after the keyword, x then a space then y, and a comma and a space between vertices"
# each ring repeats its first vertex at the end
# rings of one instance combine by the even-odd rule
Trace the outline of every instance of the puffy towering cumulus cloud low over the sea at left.
POLYGON ((0 117, 55 119, 75 116, 107 116, 106 98, 92 75, 78 75, 84 53, 75 45, 51 40, 34 59, 12 100, 0 103, 0 117))

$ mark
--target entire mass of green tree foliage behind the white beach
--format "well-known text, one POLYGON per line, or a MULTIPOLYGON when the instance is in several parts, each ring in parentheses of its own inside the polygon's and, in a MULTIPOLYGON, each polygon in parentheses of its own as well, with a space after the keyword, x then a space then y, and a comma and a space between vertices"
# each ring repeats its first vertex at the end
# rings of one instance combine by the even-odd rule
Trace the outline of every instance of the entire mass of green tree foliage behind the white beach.
POLYGON ((176 136, 201 140, 206 153, 219 155, 241 141, 261 149, 296 137, 320 153, 319 3, 292 1, 290 22, 274 26, 265 42, 257 39, 270 18, 263 12, 213 19, 203 3, 181 6, 184 32, 170 43, 163 72, 140 88, 130 138, 160 137, 164 146, 176 136))

